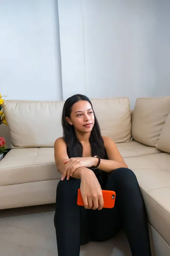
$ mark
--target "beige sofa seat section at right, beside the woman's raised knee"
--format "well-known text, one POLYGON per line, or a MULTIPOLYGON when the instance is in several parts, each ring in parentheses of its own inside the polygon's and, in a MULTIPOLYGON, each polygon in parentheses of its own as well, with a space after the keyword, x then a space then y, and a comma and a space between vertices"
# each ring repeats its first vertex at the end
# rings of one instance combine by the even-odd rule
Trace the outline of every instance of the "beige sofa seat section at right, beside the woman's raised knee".
POLYGON ((170 244, 170 154, 127 157, 125 162, 138 179, 150 224, 170 244))

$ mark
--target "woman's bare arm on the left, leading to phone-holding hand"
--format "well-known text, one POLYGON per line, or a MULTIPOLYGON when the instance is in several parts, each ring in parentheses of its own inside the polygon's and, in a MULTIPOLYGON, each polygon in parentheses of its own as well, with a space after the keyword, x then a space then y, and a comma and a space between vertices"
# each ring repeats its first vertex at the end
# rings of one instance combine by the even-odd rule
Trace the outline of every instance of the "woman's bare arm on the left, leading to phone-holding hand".
MULTIPOLYGON (((65 170, 65 163, 63 163, 65 160, 68 160, 68 154, 67 154, 67 146, 65 144, 65 141, 62 137, 58 138, 54 143, 54 158, 57 166, 57 171, 62 174, 62 180, 67 175, 67 170, 65 170)), ((82 176, 82 172, 89 172, 88 168, 80 167, 76 169, 72 177, 76 179, 80 179, 82 176)))

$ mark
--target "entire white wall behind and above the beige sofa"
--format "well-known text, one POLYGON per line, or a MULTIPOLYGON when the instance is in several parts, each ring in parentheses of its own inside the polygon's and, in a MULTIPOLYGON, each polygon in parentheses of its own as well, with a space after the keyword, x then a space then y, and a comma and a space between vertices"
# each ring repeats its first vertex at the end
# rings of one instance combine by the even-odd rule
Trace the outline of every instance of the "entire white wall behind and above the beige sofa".
POLYGON ((169 27, 170 0, 0 0, 0 92, 170 96, 169 27))

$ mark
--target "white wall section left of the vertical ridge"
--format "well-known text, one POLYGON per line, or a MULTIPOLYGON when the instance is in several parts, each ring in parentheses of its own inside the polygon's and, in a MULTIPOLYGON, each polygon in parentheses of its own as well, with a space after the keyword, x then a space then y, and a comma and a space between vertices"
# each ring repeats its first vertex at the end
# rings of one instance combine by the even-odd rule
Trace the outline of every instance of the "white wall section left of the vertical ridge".
POLYGON ((0 1, 0 92, 62 99, 57 0, 0 1))

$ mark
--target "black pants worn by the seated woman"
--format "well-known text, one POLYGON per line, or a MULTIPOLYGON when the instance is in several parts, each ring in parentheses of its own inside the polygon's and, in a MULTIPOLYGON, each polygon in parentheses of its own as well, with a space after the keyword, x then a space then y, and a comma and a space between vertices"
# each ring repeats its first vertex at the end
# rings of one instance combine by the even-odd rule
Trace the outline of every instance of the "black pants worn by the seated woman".
POLYGON ((134 173, 114 170, 105 190, 116 192, 115 207, 92 210, 77 205, 80 180, 59 181, 54 225, 58 256, 79 256, 80 244, 111 239, 123 227, 132 256, 151 256, 144 201, 134 173))

